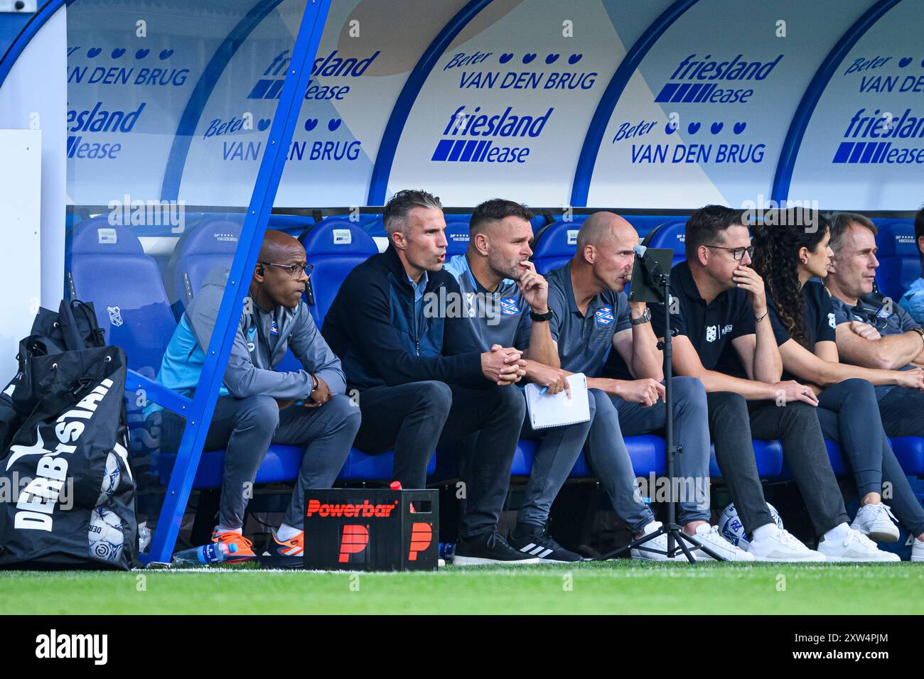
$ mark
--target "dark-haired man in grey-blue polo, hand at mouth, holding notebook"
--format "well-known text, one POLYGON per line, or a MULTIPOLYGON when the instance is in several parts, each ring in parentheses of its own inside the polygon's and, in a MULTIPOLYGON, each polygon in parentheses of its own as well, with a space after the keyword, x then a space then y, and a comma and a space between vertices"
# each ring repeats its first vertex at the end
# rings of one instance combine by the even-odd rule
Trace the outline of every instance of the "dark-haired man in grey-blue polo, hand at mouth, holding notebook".
MULTIPOLYGON (((524 350, 526 380, 557 394, 566 389, 564 370, 551 368, 558 357, 549 331, 548 283, 529 261, 533 213, 512 200, 487 200, 475 208, 468 225, 468 251, 456 255, 445 269, 458 282, 463 315, 471 319, 480 351, 492 346, 524 350)), ((533 432, 529 418, 523 436, 540 439, 509 542, 542 562, 580 561, 546 530, 549 510, 580 455, 590 421, 533 432)))

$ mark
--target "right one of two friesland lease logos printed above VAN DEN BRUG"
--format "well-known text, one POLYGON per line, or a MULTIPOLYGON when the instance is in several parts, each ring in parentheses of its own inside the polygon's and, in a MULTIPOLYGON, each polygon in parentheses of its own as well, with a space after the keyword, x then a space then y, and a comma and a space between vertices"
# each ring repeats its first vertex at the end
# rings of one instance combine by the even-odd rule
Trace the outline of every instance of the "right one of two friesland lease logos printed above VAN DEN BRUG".
POLYGON ((696 53, 684 57, 654 98, 656 103, 748 103, 753 87, 770 76, 783 55, 752 61, 743 54, 722 60, 696 53))

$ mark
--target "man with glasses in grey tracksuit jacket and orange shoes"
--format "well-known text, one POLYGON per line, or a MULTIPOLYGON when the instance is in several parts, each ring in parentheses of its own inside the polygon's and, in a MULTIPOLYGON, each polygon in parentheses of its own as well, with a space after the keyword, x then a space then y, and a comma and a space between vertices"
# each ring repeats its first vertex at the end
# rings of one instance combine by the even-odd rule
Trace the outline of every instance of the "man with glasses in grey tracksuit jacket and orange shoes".
MULTIPOLYGON (((225 449, 225 472, 213 541, 237 545, 235 561, 253 559, 242 535, 244 510, 270 443, 302 445, 305 454, 283 524, 273 531, 280 556, 301 557, 305 491, 329 488, 359 430, 359 408, 344 394, 340 359, 324 341, 301 295, 311 266, 292 236, 268 231, 250 280, 205 450, 225 449), (303 370, 274 370, 291 349, 303 370)), ((192 395, 212 337, 228 270, 209 274, 183 314, 157 380, 192 395)), ((162 444, 175 450, 183 419, 162 412, 162 444)))

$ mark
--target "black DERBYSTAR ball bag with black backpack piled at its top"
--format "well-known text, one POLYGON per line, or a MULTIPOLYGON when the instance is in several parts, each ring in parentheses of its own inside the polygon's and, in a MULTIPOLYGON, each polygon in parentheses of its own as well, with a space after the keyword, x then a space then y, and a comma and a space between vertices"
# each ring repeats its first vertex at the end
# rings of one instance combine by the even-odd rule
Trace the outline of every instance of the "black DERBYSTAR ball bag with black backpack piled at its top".
POLYGON ((127 362, 117 346, 85 348, 102 344, 91 306, 80 321, 71 313, 88 306, 42 309, 32 329, 47 334, 20 343, 15 388, 6 390, 21 426, 0 458, 0 567, 136 564, 127 362))

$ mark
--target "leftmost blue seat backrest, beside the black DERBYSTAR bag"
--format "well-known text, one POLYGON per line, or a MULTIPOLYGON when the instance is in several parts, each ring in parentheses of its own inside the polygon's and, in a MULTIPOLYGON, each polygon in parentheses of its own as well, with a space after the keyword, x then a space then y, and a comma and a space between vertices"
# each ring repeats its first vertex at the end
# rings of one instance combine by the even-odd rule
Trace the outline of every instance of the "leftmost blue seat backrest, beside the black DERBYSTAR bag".
POLYGON ((176 322, 157 263, 138 237, 106 217, 79 224, 67 279, 73 297, 93 303, 106 341, 125 350, 128 367, 154 377, 176 322))

